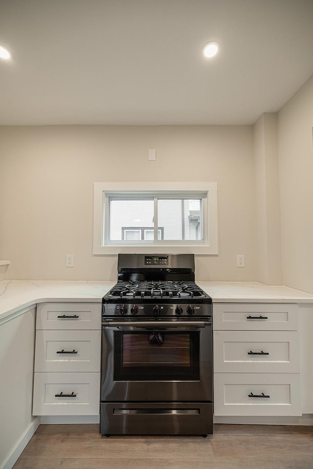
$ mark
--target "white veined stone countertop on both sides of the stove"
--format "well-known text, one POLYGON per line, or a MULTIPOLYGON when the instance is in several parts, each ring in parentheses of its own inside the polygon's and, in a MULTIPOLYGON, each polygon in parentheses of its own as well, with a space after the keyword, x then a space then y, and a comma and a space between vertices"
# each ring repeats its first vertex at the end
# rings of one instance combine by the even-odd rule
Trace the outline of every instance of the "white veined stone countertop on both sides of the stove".
MULTIPOLYGON (((282 285, 256 282, 201 282, 198 285, 214 303, 312 303, 313 295, 282 285)), ((7 280, 0 282, 0 320, 46 301, 101 302, 116 282, 7 280)))

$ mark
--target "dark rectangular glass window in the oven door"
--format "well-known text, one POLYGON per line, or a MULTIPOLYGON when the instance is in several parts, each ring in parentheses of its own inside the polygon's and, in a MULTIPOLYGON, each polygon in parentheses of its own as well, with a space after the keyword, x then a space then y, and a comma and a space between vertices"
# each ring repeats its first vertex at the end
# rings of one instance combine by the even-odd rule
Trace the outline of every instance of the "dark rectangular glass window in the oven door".
POLYGON ((114 332, 114 381, 199 381, 199 331, 114 332))

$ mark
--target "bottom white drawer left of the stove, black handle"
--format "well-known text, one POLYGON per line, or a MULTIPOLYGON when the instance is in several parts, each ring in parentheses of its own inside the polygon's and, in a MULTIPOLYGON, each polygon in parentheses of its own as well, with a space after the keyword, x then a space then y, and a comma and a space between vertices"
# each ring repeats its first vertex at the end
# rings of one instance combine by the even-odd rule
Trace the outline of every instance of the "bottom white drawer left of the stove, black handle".
POLYGON ((33 415, 98 415, 99 401, 100 373, 34 374, 33 415))

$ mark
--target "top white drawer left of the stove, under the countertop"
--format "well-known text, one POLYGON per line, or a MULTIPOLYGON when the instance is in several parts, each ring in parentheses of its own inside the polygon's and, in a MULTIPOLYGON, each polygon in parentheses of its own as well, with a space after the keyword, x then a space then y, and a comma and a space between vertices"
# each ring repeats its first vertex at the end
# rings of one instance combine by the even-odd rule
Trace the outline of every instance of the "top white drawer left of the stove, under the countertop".
POLYGON ((36 329, 101 329, 101 303, 40 303, 36 329))

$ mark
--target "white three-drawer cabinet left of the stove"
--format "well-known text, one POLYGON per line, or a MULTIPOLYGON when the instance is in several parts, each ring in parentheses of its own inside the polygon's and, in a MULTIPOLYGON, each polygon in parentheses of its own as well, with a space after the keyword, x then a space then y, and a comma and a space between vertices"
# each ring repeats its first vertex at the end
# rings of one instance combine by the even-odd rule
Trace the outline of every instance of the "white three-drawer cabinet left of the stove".
POLYGON ((37 308, 33 415, 98 415, 101 304, 37 308))

